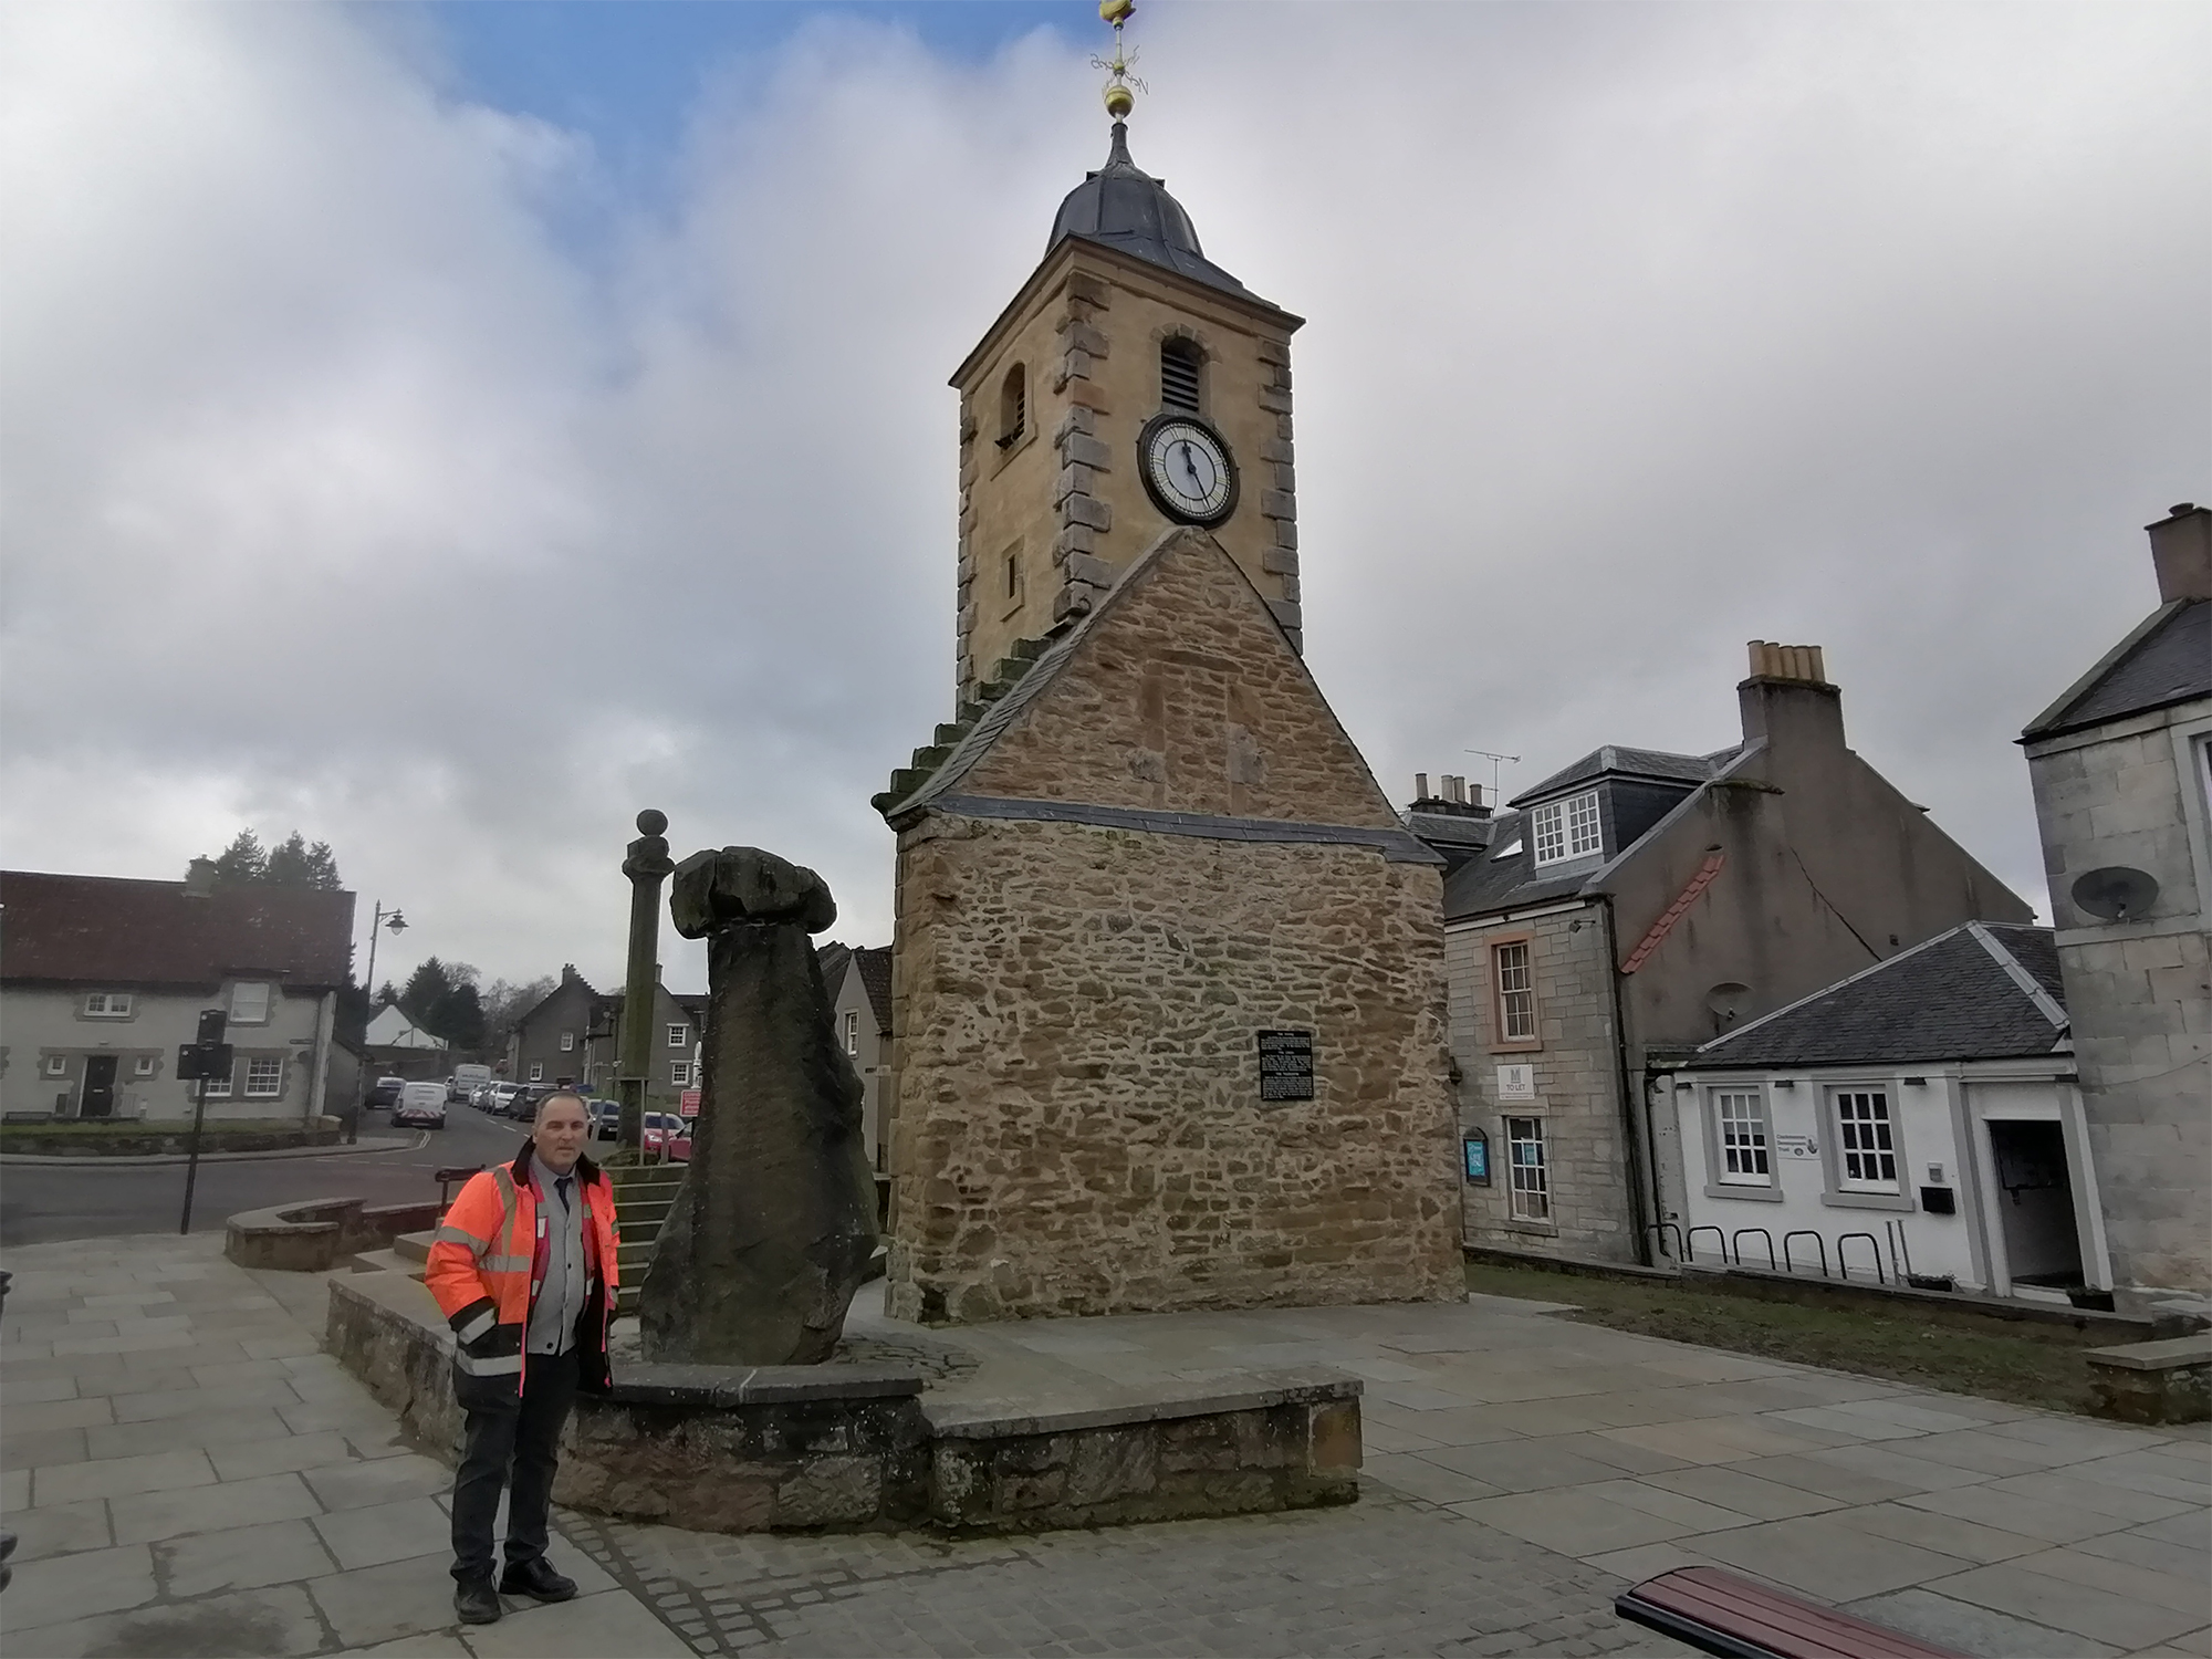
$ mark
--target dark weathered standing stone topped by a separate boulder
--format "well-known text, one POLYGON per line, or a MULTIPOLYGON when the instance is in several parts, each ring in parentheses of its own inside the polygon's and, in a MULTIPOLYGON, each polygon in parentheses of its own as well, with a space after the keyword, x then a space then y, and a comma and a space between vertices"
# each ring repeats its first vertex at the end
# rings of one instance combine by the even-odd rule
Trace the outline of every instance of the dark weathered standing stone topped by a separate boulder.
POLYGON ((814 1365, 876 1250, 860 1077, 807 940, 836 900, 812 869, 723 847, 677 865, 670 914, 708 942, 706 1066, 690 1170, 637 1303, 644 1352, 814 1365))

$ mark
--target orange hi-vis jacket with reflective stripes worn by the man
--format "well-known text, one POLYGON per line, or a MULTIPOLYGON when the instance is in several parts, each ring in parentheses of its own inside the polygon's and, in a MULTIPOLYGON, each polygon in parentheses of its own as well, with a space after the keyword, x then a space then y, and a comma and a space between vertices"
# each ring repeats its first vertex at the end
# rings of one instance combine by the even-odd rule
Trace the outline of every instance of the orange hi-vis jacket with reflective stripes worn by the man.
MULTIPOLYGON (((577 1327, 580 1387, 606 1387, 606 1327, 615 1303, 615 1190, 606 1175, 582 1159, 575 1166, 584 1206, 584 1316, 577 1327)), ((429 1248, 422 1283, 453 1327, 453 1367, 462 1405, 487 1405, 522 1387, 522 1334, 544 1283, 544 1228, 538 1188, 549 1177, 531 1170, 531 1148, 513 1164, 480 1175, 453 1199, 429 1248)))

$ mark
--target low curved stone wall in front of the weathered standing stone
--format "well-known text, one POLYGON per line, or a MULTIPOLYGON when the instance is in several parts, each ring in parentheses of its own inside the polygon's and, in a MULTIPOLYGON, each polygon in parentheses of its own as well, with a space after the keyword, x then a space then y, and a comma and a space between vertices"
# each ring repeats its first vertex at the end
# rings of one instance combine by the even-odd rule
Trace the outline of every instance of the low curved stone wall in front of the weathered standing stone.
MULTIPOLYGON (((411 1438, 458 1453, 453 1343, 420 1281, 332 1279, 327 1347, 411 1438)), ((714 1533, 1006 1533, 1354 1502, 1358 1378, 1243 1383, 1006 1416, 931 1407, 920 1369, 896 1365, 617 1365, 613 1396, 577 1400, 553 1495, 714 1533)))

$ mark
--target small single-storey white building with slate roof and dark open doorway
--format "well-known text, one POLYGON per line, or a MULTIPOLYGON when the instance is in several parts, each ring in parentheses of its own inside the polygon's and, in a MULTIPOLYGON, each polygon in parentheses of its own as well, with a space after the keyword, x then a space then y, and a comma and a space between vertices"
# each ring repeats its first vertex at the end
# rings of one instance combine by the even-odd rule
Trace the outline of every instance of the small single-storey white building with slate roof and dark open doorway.
POLYGON ((2051 929, 1969 922, 1655 1084, 1670 1252, 2066 1301, 2112 1267, 2051 929))

